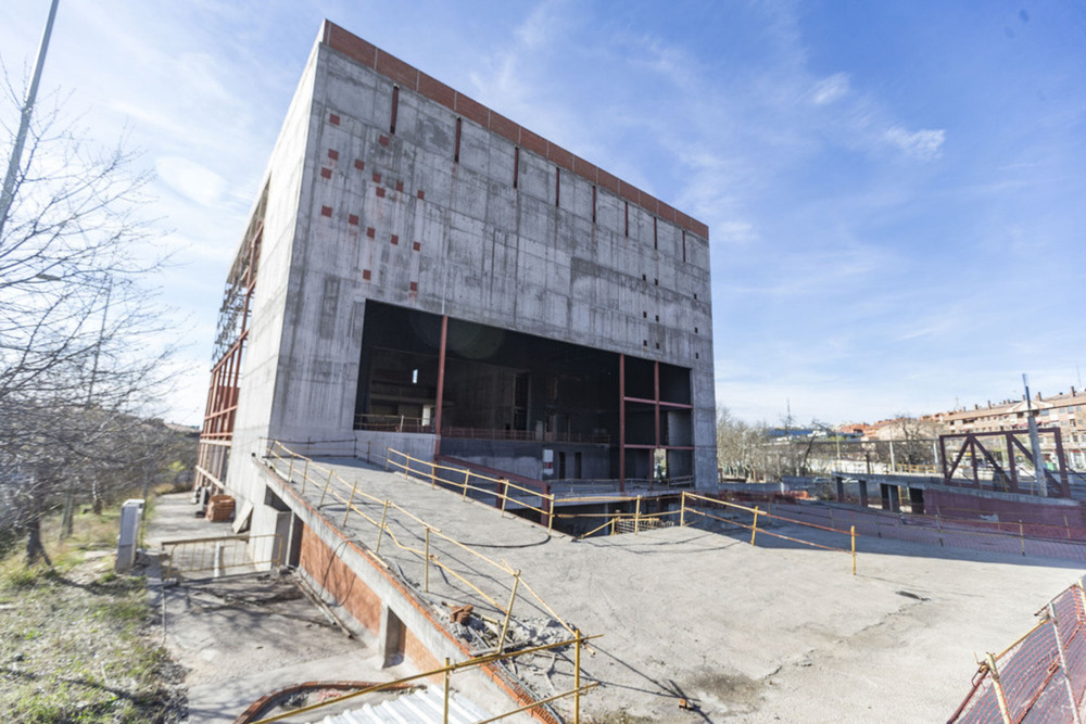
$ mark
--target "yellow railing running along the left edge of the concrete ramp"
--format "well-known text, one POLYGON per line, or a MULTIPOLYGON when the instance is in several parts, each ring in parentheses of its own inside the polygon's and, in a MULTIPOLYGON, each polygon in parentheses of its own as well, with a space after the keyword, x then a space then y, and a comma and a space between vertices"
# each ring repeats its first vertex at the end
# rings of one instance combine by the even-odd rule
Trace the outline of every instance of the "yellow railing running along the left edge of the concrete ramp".
MULTIPOLYGON (((392 453, 393 450, 390 450, 392 453)), ((278 442, 273 442, 270 444, 268 456, 268 465, 277 472, 283 473, 283 468, 286 468, 285 477, 287 481, 291 484, 296 484, 295 479, 300 478, 301 493, 304 496, 306 490, 311 485, 316 485, 320 490, 320 501, 317 507, 324 506, 327 499, 332 498, 342 503, 345 508, 343 511, 343 519, 341 521, 342 526, 346 526, 349 520, 351 520, 351 513, 355 513, 355 520, 362 519, 372 525, 377 530, 377 543, 374 546, 372 551, 380 556, 381 545, 388 539, 392 545, 396 546, 400 550, 411 554, 424 563, 424 574, 422 574, 422 589, 425 593, 430 592, 430 567, 434 567, 456 581, 464 584, 469 588, 475 595, 479 596, 480 599, 487 601, 493 609, 500 611, 505 618, 505 622, 502 628, 502 637, 498 642, 498 651, 501 651, 505 645, 505 633, 508 630, 508 623, 513 615, 513 607, 517 599, 517 594, 520 588, 523 588, 529 593, 529 595, 535 600, 535 602, 545 610, 550 615, 552 615, 566 631, 573 634, 573 627, 569 625, 561 617, 555 612, 555 610, 547 605, 543 598, 535 593, 535 590, 528 585, 528 582, 521 576, 519 570, 514 570, 512 566, 505 560, 496 561, 489 556, 476 550, 471 546, 468 546, 459 541, 441 532, 441 529, 433 525, 406 508, 393 503, 390 499, 382 499, 377 496, 370 495, 365 491, 358 488, 355 482, 348 482, 344 480, 334 469, 330 467, 325 467, 315 462, 311 458, 307 458, 296 453, 291 452, 285 445, 278 442), (378 518, 377 510, 372 510, 374 515, 370 516, 361 506, 364 504, 370 504, 376 509, 380 510, 380 516, 378 518), (400 537, 392 531, 388 523, 388 515, 390 510, 394 510, 402 513, 408 521, 414 522, 418 529, 421 530, 421 535, 415 533, 415 535, 424 541, 424 547, 421 549, 401 541, 400 537), (494 599, 493 596, 483 590, 473 581, 469 580, 470 573, 457 571, 452 564, 445 562, 433 547, 437 541, 444 542, 449 545, 454 546, 457 550, 463 550, 464 552, 473 556, 476 559, 487 563, 500 573, 510 576, 510 588, 512 596, 506 605, 494 599)), ((408 458, 415 460, 415 458, 408 458)), ((416 460, 417 462, 422 462, 416 460)), ((432 465, 432 463, 426 463, 432 465)), ((512 485, 512 483, 510 483, 512 485)), ((527 490, 527 488, 522 488, 527 490)), ((455 561, 455 558, 452 560, 455 561)), ((490 577, 490 576, 487 576, 490 577)))

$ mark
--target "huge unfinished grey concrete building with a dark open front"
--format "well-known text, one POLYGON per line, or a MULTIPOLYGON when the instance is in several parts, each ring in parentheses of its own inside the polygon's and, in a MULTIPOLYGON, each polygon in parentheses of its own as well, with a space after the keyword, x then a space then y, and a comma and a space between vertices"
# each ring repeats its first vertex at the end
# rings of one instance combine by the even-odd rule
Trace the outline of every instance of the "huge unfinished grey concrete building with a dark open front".
POLYGON ((261 441, 715 484, 707 227, 338 26, 226 285, 199 482, 261 441))

